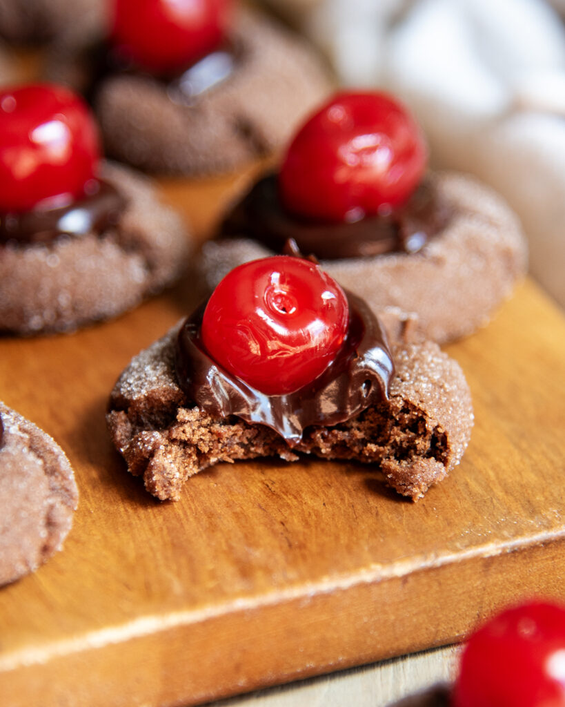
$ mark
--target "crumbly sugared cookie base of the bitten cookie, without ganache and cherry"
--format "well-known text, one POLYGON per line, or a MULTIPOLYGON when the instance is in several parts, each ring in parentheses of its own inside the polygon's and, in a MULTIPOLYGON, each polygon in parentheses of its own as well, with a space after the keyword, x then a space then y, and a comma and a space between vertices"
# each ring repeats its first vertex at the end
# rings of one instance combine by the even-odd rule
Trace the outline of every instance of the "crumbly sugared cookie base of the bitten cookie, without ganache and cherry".
POLYGON ((432 342, 393 346, 396 377, 388 402, 333 427, 309 427, 290 447, 270 428, 192 407, 177 385, 178 327, 121 374, 107 414, 110 435, 129 472, 162 500, 178 500, 186 479, 217 462, 297 452, 379 464, 388 485, 413 500, 460 462, 470 438, 472 404, 458 364, 432 342))

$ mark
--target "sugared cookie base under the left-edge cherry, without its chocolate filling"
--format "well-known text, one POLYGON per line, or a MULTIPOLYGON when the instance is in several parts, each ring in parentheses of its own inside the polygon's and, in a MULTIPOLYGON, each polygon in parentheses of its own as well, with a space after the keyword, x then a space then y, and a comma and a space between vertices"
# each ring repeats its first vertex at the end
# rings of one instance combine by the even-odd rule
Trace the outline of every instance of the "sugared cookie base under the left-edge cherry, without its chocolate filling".
POLYGON ((181 274, 190 240, 150 182, 105 163, 126 198, 117 226, 50 243, 0 243, 0 331, 38 334, 114 317, 181 274))

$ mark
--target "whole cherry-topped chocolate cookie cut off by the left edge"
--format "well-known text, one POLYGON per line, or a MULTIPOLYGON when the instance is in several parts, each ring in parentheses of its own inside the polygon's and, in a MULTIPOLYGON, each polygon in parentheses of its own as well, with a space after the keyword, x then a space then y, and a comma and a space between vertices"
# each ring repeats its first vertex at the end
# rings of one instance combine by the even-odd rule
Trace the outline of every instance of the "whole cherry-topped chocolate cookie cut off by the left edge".
POLYGON ((100 160, 76 95, 47 84, 4 91, 0 123, 1 331, 76 329, 179 276, 191 245, 182 221, 146 177, 100 160))

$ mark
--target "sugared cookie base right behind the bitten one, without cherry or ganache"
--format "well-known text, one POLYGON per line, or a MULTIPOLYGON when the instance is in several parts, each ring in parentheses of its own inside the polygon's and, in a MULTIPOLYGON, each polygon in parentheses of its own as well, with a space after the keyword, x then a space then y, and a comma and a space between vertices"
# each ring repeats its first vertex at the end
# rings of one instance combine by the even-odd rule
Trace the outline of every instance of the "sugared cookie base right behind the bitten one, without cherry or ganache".
MULTIPOLYGON (((518 219, 492 189, 457 173, 430 179, 453 215, 422 250, 320 264, 375 311, 414 312, 425 336, 442 344, 487 323, 525 274, 527 247, 518 219)), ((206 243, 200 267, 213 288, 232 268, 267 255, 273 252, 242 234, 206 243)))

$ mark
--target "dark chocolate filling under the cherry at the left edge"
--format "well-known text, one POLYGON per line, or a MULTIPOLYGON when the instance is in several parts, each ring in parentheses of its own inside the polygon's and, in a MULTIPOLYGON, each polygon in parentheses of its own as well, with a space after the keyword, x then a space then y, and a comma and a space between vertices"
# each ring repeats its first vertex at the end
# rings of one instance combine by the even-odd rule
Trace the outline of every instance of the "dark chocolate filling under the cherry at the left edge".
POLYGON ((49 243, 59 235, 103 233, 115 226, 126 199, 109 182, 99 180, 98 189, 58 209, 32 209, 23 214, 0 214, 0 243, 49 243))

